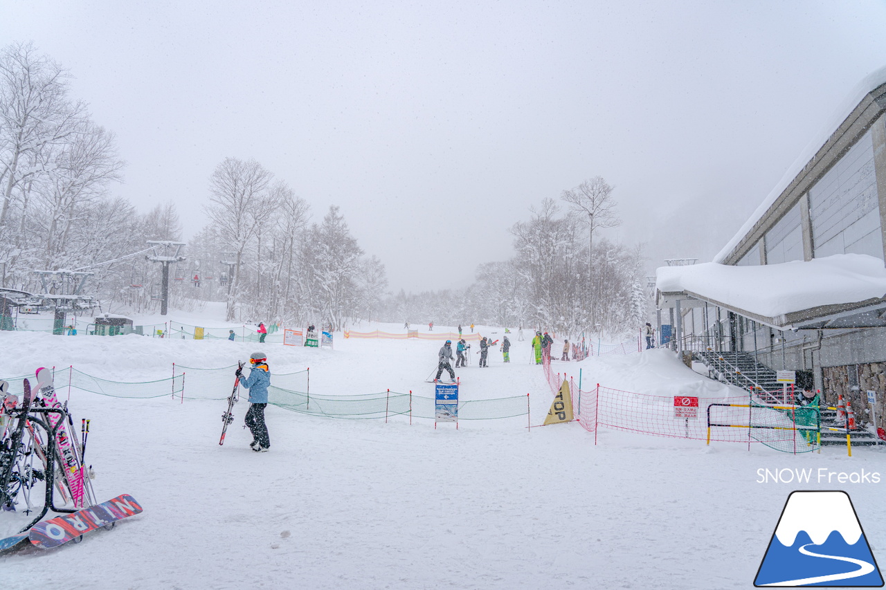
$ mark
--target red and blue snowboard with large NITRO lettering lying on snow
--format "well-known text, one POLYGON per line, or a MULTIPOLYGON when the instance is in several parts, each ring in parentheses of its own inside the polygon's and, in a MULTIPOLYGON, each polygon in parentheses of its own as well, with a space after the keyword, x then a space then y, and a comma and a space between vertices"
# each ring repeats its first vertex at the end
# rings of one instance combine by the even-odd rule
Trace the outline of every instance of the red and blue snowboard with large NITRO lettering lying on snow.
POLYGON ((36 547, 51 549, 80 537, 83 533, 95 531, 102 526, 107 527, 140 512, 142 512, 141 505, 132 496, 124 493, 113 500, 90 508, 37 523, 27 532, 27 537, 36 547))

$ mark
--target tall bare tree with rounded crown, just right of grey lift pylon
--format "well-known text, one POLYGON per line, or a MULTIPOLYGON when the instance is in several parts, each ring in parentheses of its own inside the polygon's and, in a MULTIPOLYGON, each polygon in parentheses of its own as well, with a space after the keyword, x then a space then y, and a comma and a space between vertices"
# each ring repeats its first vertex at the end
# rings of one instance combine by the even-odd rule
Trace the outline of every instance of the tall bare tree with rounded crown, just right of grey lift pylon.
POLYGON ((234 320, 243 252, 276 212, 276 196, 268 187, 273 175, 254 159, 226 158, 209 179, 211 205, 204 210, 218 228, 222 240, 234 249, 236 265, 230 277, 226 317, 234 320))

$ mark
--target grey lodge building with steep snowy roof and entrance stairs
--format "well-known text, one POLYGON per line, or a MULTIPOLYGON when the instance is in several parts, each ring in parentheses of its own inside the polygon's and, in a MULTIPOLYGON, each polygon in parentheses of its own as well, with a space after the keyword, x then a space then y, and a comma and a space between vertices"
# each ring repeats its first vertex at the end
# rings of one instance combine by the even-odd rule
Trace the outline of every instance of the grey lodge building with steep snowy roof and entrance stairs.
POLYGON ((886 67, 859 83, 713 261, 657 269, 664 343, 671 332, 685 361, 745 390, 781 390, 776 371, 794 371, 797 387, 820 390, 828 406, 842 394, 862 422, 883 426, 884 113, 886 67))

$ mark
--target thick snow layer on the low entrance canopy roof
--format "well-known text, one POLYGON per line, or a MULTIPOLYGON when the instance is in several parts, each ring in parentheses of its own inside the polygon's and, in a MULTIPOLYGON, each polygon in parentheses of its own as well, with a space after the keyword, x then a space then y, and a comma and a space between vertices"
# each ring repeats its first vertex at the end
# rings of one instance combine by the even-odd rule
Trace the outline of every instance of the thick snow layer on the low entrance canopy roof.
POLYGON ((764 317, 886 297, 886 267, 867 254, 754 267, 705 262, 660 267, 656 276, 658 291, 690 291, 764 317))

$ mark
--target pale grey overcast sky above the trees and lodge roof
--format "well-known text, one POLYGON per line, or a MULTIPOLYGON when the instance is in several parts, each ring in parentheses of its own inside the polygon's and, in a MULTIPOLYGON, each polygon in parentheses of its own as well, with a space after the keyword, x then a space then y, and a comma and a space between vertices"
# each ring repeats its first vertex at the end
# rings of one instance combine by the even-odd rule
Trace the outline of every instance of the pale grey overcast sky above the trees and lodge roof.
POLYGON ((190 237, 226 157, 320 221, 341 206, 392 290, 464 286, 542 198, 602 175, 650 267, 711 260, 861 78, 886 2, 3 0, 190 237))

